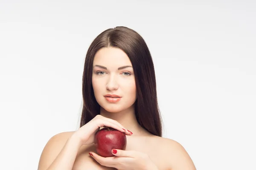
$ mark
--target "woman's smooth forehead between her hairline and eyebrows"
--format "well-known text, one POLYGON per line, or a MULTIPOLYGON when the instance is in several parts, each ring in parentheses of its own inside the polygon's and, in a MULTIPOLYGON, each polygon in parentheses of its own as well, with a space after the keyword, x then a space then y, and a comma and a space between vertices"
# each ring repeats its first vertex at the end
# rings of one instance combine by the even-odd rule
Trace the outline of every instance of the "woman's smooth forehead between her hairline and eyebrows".
POLYGON ((131 61, 127 54, 120 48, 101 48, 95 54, 93 65, 131 65, 131 61))

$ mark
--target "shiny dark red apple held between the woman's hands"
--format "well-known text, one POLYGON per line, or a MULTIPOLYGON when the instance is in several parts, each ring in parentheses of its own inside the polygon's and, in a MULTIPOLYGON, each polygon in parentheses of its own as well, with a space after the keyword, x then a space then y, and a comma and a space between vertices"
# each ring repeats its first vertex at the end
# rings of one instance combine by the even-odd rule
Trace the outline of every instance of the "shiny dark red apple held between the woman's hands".
POLYGON ((104 127, 95 134, 97 153, 102 157, 111 157, 112 149, 126 149, 126 135, 111 127, 104 127))

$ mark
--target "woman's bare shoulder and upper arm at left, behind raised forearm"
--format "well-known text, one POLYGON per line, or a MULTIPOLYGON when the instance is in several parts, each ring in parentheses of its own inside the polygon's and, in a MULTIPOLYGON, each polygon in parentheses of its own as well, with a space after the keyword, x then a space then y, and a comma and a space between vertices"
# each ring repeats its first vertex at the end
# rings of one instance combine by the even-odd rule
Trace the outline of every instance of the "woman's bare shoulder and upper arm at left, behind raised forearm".
POLYGON ((67 139, 73 134, 73 131, 62 132, 52 136, 45 145, 38 163, 38 169, 47 169, 54 159, 61 152, 67 142, 67 139))

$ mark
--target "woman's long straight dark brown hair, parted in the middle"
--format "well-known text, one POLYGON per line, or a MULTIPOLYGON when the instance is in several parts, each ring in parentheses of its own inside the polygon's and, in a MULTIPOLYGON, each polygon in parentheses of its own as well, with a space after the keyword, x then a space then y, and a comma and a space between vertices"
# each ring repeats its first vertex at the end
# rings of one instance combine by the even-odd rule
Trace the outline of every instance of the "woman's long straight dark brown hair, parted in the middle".
POLYGON ((134 69, 137 89, 137 121, 149 133, 162 136, 162 119, 157 104, 156 78, 151 54, 143 38, 136 31, 123 26, 103 31, 88 48, 82 79, 83 108, 80 127, 100 114, 100 106, 93 92, 92 71, 94 56, 104 47, 120 48, 128 55, 134 69))

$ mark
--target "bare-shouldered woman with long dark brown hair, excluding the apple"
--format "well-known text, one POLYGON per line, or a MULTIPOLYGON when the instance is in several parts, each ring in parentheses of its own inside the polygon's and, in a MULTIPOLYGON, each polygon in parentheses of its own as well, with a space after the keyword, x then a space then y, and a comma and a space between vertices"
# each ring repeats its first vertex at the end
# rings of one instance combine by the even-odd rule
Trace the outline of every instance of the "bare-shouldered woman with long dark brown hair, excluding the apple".
POLYGON ((127 27, 103 31, 90 45, 83 73, 80 128, 53 136, 38 170, 195 170, 186 150, 162 137, 156 79, 143 38, 127 27), (124 132, 126 150, 96 153, 100 127, 124 132))

